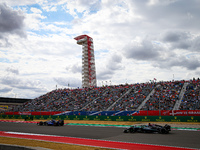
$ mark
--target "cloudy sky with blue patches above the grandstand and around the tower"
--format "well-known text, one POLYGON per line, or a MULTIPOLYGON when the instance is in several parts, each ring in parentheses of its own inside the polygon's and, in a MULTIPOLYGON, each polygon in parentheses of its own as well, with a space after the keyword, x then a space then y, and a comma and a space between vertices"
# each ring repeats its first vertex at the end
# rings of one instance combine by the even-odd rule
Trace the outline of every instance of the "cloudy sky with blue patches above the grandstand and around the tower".
POLYGON ((0 12, 1 97, 81 87, 82 34, 98 86, 200 74, 199 0, 1 0, 0 12))

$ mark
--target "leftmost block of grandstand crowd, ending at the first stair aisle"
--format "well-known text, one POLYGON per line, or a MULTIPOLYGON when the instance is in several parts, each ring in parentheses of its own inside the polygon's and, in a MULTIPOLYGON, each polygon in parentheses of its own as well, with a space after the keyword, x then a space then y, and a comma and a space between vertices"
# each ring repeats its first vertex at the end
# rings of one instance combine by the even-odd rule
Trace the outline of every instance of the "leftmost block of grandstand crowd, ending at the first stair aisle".
POLYGON ((102 88, 57 89, 42 95, 12 111, 76 111, 93 101, 105 90, 102 88))

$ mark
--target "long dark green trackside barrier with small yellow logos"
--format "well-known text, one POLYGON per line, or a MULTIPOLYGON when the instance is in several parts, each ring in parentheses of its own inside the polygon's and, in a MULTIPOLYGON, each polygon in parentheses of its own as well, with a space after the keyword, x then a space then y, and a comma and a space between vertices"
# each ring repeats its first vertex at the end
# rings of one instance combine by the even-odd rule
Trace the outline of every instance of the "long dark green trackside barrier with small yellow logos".
POLYGON ((200 122, 200 116, 87 116, 87 115, 0 115, 0 119, 25 120, 94 120, 132 122, 200 122))

